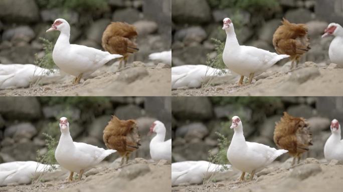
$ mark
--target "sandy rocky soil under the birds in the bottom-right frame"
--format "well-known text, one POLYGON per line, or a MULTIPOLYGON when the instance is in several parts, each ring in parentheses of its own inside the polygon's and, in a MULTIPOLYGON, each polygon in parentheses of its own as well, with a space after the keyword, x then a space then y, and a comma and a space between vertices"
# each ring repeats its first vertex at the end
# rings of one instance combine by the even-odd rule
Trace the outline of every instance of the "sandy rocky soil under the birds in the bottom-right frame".
POLYGON ((237 182, 239 171, 218 175, 219 182, 204 185, 175 186, 173 192, 224 192, 224 191, 341 191, 340 172, 343 164, 337 160, 307 158, 291 167, 291 158, 284 163, 274 162, 256 173, 252 181, 237 182))

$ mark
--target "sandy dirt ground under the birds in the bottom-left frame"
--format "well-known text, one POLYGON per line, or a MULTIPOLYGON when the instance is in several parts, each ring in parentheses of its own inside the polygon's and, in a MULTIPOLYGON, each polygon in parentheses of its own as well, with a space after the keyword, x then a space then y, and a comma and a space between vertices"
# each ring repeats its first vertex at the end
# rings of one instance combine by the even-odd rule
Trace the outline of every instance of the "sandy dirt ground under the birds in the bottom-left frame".
MULTIPOLYGON (((82 180, 66 182, 68 171, 47 173, 35 184, 0 187, 1 192, 112 192, 171 191, 170 164, 135 163, 114 168, 103 162, 86 172, 82 180)), ((74 174, 74 178, 77 178, 74 174)))

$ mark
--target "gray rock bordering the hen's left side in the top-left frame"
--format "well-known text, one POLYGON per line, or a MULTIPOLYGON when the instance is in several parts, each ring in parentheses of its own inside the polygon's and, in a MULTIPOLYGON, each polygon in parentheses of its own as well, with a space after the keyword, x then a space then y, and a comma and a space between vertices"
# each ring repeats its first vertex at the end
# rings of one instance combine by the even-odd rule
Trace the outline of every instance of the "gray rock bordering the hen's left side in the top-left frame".
POLYGON ((109 23, 111 20, 108 18, 101 18, 91 23, 86 31, 87 38, 101 44, 102 33, 109 23))

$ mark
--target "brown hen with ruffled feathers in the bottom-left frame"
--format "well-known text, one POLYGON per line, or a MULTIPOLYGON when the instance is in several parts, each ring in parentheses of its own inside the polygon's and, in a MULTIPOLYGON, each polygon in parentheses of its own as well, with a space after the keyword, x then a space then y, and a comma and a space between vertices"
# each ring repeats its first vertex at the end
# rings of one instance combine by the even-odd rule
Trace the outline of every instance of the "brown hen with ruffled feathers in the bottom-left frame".
POLYGON ((103 133, 102 138, 107 148, 115 149, 120 154, 120 165, 124 163, 124 157, 127 163, 130 153, 140 146, 138 126, 133 119, 120 120, 113 115, 103 133))

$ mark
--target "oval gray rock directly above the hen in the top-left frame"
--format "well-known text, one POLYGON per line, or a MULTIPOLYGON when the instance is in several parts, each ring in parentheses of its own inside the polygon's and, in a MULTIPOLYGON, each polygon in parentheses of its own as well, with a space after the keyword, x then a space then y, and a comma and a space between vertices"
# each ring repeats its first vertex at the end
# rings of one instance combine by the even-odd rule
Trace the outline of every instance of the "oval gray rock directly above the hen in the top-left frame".
POLYGON ((134 8, 125 8, 114 11, 112 21, 121 21, 127 23, 134 23, 139 20, 139 12, 134 8))

